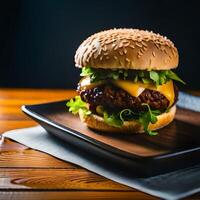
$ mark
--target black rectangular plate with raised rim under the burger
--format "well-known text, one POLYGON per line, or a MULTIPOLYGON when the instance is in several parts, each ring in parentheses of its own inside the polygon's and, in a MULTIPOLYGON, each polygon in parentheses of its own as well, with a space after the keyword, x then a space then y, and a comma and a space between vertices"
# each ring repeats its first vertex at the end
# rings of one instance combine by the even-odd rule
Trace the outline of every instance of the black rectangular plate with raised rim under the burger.
POLYGON ((67 101, 22 106, 50 134, 113 162, 152 176, 200 163, 200 114, 178 108, 175 120, 158 136, 108 134, 88 129, 68 112, 67 101), (77 145, 78 144, 78 145, 77 145))

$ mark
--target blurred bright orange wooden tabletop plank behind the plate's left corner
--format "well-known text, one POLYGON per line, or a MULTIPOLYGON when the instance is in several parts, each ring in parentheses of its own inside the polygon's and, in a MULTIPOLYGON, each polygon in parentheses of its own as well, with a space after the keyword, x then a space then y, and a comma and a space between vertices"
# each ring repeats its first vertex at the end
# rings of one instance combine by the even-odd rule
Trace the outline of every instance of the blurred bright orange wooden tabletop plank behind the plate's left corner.
POLYGON ((22 105, 64 100, 75 94, 75 91, 67 90, 0 90, 0 120, 28 120, 21 111, 22 105))

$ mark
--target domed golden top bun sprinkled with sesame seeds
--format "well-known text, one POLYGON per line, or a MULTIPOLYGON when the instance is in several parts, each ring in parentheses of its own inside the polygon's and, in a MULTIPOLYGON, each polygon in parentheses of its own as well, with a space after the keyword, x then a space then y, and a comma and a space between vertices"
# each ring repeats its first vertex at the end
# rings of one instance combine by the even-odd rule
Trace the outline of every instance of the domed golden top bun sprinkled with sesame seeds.
POLYGON ((138 29, 111 29, 87 38, 77 49, 77 67, 168 70, 178 65, 178 51, 166 37, 138 29))

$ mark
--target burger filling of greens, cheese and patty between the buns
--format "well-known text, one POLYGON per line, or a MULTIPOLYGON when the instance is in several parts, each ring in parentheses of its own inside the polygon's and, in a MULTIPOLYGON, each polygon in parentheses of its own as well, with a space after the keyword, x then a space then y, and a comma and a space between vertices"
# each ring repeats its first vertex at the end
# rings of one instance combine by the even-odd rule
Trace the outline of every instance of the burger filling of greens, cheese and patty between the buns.
POLYGON ((184 82, 171 70, 108 70, 82 68, 79 96, 67 106, 76 114, 97 114, 110 126, 121 127, 125 121, 137 120, 146 133, 157 116, 168 112, 176 103, 178 89, 173 80, 184 82))

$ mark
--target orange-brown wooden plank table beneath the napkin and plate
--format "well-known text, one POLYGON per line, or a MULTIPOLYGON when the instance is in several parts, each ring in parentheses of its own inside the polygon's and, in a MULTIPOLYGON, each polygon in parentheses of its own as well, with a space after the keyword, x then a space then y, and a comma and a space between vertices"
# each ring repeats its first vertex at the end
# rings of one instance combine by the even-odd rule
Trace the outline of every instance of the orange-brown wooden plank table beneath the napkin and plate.
MULTIPOLYGON (((70 90, 0 89, 0 133, 37 125, 21 112, 21 105, 74 95, 70 90)), ((0 142, 0 190, 5 200, 156 199, 8 139, 0 142)))

